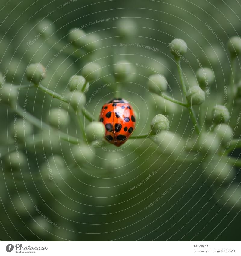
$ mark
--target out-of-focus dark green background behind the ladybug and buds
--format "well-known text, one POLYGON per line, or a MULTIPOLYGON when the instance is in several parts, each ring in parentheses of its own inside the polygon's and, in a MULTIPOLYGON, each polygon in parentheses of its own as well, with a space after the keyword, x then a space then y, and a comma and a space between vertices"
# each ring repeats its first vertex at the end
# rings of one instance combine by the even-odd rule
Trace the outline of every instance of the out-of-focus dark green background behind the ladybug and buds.
MULTIPOLYGON (((76 0, 58 8, 66 3, 66 0, 1 0, 0 71, 4 74, 7 68, 6 82, 29 84, 24 77, 27 65, 41 62, 46 67, 70 42, 70 29, 88 24, 84 31, 95 32, 100 38, 96 50, 78 58, 70 54, 75 50, 73 46, 67 47, 51 63, 42 84, 60 94, 67 93, 69 78, 81 74, 86 62, 98 62, 102 79, 90 84, 86 99, 102 85, 111 83, 111 86, 97 93, 86 107, 96 118, 102 105, 114 96, 113 64, 127 59, 133 63, 136 74, 131 81, 121 81, 119 96, 130 100, 136 111, 134 134, 149 131, 152 118, 161 113, 168 115, 170 131, 179 134, 185 143, 192 129, 187 110, 164 103, 149 93, 146 82, 151 72, 136 66, 141 63, 164 74, 173 96, 182 100, 175 62, 167 47, 174 38, 182 38, 188 45, 185 57, 190 64, 183 62, 188 86, 197 84, 194 74, 198 69, 197 59, 214 70, 215 83, 205 103, 207 119, 214 105, 223 104, 223 88, 229 79, 229 54, 205 23, 227 49, 228 38, 241 34, 239 0, 76 0), (89 24, 111 17, 116 19, 89 24), (27 46, 45 24, 48 29, 27 46), (143 47, 125 48, 120 43, 138 43, 157 48, 158 52, 143 47)), ((36 89, 21 89, 18 103, 22 108, 26 105, 26 94, 27 112, 49 123, 49 110, 58 108, 59 100, 36 89)), ((65 103, 62 107, 69 115, 68 125, 62 131, 81 137, 74 112, 65 103)), ((238 109, 240 105, 233 112, 238 109)), ((30 123, 27 125, 34 135, 30 132, 24 137, 21 128, 17 129, 20 160, 16 160, 15 111, 0 104, 0 112, 1 240, 240 240, 239 169, 233 169, 236 177, 232 184, 220 187, 207 178, 198 162, 190 165, 175 157, 173 160, 151 140, 140 139, 129 140, 117 152, 110 152, 117 149, 111 144, 105 150, 93 149, 89 152, 89 163, 77 166, 72 145, 60 141, 58 132, 41 130, 30 123), (43 152, 54 180, 48 177, 43 152), (156 173, 137 186, 152 172, 156 173), (137 188, 128 191, 134 186, 137 188), (172 189, 160 201, 144 210, 169 187, 172 189)), ((236 114, 231 117, 234 124, 236 117, 236 114)), ((19 124, 22 122, 20 117, 17 120, 19 124)), ((239 134, 240 127, 237 138, 239 134)))

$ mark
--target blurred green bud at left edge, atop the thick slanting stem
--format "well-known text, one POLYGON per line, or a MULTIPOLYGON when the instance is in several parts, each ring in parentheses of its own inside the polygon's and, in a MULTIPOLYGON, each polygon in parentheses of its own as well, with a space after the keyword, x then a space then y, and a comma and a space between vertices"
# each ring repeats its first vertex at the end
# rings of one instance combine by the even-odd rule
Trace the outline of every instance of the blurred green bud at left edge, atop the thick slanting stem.
POLYGON ((2 86, 2 99, 0 103, 14 107, 17 103, 17 90, 14 88, 14 85, 4 84, 2 86))

